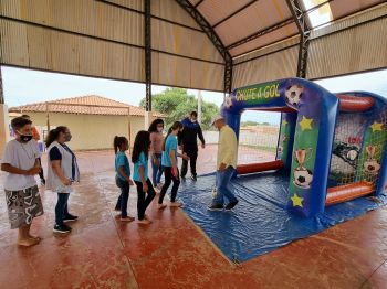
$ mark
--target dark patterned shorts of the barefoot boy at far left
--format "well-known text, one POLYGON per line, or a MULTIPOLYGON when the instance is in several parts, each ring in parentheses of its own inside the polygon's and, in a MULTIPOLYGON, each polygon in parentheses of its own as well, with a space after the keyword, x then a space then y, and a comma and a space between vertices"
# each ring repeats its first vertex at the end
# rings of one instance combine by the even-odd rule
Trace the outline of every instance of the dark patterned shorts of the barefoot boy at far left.
POLYGON ((11 228, 29 225, 32 218, 43 215, 38 185, 21 191, 7 191, 6 201, 11 228))

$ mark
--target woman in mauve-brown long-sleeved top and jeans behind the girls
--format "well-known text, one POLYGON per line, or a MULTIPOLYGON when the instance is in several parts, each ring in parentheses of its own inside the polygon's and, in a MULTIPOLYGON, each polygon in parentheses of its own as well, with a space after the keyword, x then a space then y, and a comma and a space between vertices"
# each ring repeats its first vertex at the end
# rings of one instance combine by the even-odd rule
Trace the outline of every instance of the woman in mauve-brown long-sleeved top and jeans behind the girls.
POLYGON ((155 119, 148 131, 150 132, 150 161, 151 161, 151 182, 154 188, 159 191, 163 188, 161 175, 161 153, 163 153, 163 142, 164 142, 164 120, 160 118, 155 119))

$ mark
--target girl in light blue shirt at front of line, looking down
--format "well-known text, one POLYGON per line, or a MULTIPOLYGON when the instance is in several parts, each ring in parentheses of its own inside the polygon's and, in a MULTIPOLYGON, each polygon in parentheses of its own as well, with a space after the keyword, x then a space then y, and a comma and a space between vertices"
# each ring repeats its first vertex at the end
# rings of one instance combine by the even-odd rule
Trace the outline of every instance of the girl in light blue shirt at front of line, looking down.
POLYGON ((182 124, 180 121, 175 121, 174 125, 169 128, 168 135, 163 143, 161 164, 164 169, 165 183, 158 199, 159 210, 167 206, 166 204, 163 204, 163 200, 171 182, 174 182, 174 185, 171 190, 170 206, 181 206, 180 202, 176 202, 177 191, 179 190, 180 185, 179 170, 177 168, 177 157, 189 160, 188 156, 177 152, 177 135, 181 130, 182 124))

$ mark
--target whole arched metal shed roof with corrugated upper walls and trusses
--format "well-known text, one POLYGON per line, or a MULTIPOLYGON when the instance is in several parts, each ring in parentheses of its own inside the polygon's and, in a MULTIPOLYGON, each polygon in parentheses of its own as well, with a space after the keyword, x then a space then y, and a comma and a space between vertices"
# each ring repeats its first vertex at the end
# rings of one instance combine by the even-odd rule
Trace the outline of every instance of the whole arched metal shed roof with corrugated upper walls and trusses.
POLYGON ((385 0, 1 0, 0 64, 145 83, 150 110, 151 84, 230 93, 386 68, 386 28, 385 0))

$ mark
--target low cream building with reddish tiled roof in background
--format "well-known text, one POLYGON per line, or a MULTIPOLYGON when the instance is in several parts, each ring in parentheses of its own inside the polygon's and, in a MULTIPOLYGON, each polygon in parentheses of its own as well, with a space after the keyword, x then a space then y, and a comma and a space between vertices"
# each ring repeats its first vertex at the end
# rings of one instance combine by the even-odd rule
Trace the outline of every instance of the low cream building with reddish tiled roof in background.
MULTIPOLYGON (((133 143, 137 131, 144 129, 146 111, 140 107, 88 95, 9 108, 10 120, 22 114, 31 117, 42 140, 50 129, 66 126, 73 135, 72 149, 104 150, 113 148, 115 136, 130 136, 133 143)), ((165 118, 165 115, 153 113, 153 118, 165 118)), ((42 144, 40 147, 43 148, 42 144)))

